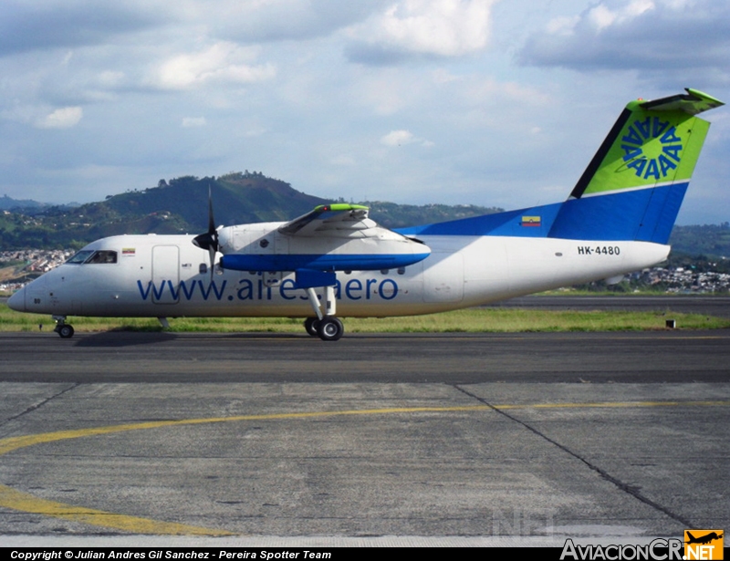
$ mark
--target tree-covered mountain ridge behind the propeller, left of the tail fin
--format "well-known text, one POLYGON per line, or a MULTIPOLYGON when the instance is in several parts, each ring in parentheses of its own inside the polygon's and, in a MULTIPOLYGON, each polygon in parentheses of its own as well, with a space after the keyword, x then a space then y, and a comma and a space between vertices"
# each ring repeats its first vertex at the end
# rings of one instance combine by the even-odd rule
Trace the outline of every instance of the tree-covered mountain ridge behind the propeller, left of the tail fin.
MULTIPOLYGON (((185 176, 76 208, 56 206, 33 215, 5 211, 0 213, 0 244, 4 249, 78 248, 116 234, 199 234, 208 227, 208 189, 213 195, 216 225, 287 221, 318 204, 332 202, 298 192, 289 183, 257 171, 231 172, 218 178, 185 176)), ((500 210, 473 205, 364 204, 370 206, 376 222, 391 228, 500 210)))

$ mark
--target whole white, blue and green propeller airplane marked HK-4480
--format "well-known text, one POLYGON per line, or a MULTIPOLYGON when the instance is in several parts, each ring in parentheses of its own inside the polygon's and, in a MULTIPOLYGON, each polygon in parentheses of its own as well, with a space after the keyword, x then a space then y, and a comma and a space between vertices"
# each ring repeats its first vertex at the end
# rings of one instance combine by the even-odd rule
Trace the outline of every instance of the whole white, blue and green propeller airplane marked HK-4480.
POLYGON ((724 105, 692 88, 632 100, 568 200, 389 230, 366 206, 321 205, 286 223, 199 235, 118 235, 86 245, 7 304, 68 316, 301 317, 311 336, 342 337, 339 317, 432 314, 606 279, 656 265, 709 122, 724 105))

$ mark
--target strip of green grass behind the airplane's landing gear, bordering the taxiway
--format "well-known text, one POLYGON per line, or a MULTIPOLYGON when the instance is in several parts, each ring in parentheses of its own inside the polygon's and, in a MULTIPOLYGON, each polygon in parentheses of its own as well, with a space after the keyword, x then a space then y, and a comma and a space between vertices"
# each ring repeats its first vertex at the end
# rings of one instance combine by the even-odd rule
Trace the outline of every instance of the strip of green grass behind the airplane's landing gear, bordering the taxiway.
MULTIPOLYGON (((515 308, 471 308, 416 317, 347 318, 347 333, 458 333, 537 331, 637 331, 665 328, 675 319, 682 329, 721 329, 730 319, 697 314, 665 312, 576 312, 515 308)), ((162 331, 156 319, 72 317, 78 332, 134 330, 162 331)), ((0 305, 0 331, 43 331, 53 329, 50 317, 21 314, 0 305)), ((265 332, 303 333, 302 320, 287 317, 189 317, 170 320, 172 332, 265 332)))

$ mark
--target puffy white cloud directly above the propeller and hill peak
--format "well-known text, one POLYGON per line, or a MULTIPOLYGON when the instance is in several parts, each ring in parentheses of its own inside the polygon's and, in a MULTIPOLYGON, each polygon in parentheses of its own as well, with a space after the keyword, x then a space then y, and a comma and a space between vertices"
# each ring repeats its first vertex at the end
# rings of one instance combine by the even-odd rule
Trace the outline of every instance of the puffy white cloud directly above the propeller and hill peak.
POLYGON ((249 84, 274 78, 273 65, 247 64, 255 52, 235 43, 215 43, 201 52, 168 59, 156 70, 153 82, 162 89, 190 89, 207 82, 249 84))

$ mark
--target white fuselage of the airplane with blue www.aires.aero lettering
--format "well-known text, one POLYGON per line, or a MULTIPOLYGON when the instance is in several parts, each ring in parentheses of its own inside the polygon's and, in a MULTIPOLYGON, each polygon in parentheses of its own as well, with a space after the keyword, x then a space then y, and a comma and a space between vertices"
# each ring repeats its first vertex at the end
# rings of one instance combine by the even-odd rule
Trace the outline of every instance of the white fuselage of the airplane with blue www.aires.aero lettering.
MULTIPOLYGON (((662 262, 670 247, 505 236, 421 236, 432 254, 400 269, 337 274, 340 317, 428 314, 608 278, 662 262)), ((294 273, 221 271, 190 235, 121 235, 85 249, 116 263, 65 264, 9 300, 55 316, 310 317, 294 273)), ((317 290, 318 295, 323 289, 317 290)))

